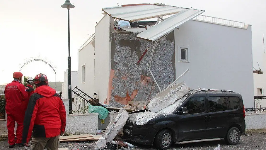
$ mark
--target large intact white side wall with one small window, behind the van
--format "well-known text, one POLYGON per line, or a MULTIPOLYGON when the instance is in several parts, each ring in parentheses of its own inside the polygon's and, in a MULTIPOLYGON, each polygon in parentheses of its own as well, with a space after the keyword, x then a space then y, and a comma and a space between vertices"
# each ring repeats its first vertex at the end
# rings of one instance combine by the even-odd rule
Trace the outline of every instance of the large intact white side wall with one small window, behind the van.
POLYGON ((251 26, 248 29, 188 21, 174 31, 176 78, 193 89, 227 89, 253 107, 251 26), (189 62, 178 62, 178 46, 189 46, 189 62))

